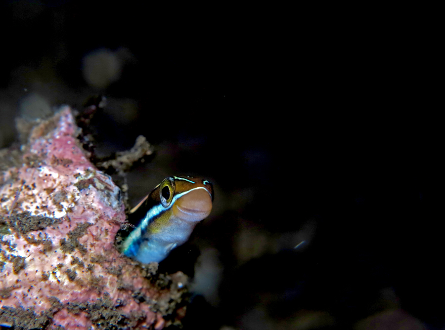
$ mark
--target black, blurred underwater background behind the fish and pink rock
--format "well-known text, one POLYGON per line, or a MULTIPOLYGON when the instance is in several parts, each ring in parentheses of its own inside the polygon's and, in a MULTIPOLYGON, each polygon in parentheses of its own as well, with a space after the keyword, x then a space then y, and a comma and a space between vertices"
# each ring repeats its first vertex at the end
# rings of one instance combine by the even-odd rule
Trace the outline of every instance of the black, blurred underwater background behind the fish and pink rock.
POLYGON ((443 329, 421 13, 171 6, 2 1, 0 146, 15 117, 102 94, 98 155, 141 134, 155 151, 132 205, 168 175, 212 180, 212 214, 160 265, 195 278, 184 329, 443 329))

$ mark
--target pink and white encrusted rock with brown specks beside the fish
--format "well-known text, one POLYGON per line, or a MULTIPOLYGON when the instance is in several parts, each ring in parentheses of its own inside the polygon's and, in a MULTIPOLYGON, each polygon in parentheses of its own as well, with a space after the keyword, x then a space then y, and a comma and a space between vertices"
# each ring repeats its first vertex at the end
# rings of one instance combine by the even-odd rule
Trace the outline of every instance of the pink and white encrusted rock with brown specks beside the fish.
POLYGON ((162 329, 187 279, 155 281, 155 266, 115 248, 126 222, 121 191, 89 162, 77 132, 64 107, 20 150, 0 151, 0 325, 162 329))

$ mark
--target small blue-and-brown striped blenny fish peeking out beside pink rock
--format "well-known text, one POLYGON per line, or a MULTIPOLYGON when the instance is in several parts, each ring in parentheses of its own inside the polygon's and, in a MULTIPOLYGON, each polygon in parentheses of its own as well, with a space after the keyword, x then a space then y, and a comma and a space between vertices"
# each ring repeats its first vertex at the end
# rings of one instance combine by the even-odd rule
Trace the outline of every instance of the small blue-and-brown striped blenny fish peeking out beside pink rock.
POLYGON ((122 252, 142 263, 164 260, 210 214, 214 197, 213 185, 205 179, 186 175, 165 178, 130 211, 139 220, 122 252))

